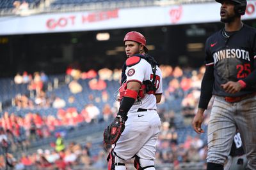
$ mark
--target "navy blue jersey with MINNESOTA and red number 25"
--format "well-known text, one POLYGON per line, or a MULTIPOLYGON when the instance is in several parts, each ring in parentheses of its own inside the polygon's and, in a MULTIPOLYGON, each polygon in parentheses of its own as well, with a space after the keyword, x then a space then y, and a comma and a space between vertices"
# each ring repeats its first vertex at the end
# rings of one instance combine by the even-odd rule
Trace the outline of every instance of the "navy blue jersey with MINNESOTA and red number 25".
POLYGON ((228 81, 246 78, 255 69, 256 29, 243 25, 239 31, 222 29, 210 36, 205 43, 205 65, 214 67, 212 94, 236 97, 251 94, 256 86, 248 86, 236 94, 229 94, 220 86, 228 81))

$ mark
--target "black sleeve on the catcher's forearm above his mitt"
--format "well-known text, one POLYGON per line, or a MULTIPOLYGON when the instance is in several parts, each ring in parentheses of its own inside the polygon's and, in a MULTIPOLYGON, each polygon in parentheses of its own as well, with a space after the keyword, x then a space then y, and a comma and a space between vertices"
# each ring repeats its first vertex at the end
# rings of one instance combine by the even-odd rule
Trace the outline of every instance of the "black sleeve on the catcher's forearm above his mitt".
POLYGON ((127 120, 128 118, 127 113, 131 109, 134 101, 135 101, 134 98, 126 97, 126 96, 122 99, 122 103, 120 105, 117 115, 121 115, 124 121, 127 120))

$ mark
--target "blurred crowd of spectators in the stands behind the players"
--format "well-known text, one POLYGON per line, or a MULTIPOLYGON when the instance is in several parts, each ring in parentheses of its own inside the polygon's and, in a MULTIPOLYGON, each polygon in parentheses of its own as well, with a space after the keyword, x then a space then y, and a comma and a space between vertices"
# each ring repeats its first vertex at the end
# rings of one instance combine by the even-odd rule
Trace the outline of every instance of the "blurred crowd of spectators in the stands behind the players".
MULTIPOLYGON (((198 105, 200 85, 205 67, 191 69, 179 66, 160 66, 160 68, 163 71, 165 84, 162 101, 158 106, 159 116, 163 124, 157 144, 156 163, 173 163, 179 169, 180 162, 204 162, 207 152, 204 141, 198 136, 189 135, 186 136, 184 142, 180 143, 178 140, 180 136, 177 132, 177 128, 179 129, 180 127, 175 123, 175 118, 177 115, 181 115, 184 127, 188 127, 191 124, 198 105), (166 103, 172 104, 171 107, 166 107, 166 103), (175 110, 172 106, 179 106, 180 110, 175 110)), ((40 115, 35 111, 26 113, 23 116, 8 113, 7 111, 4 112, 0 118, 0 127, 2 128, 2 133, 6 135, 8 143, 10 143, 12 151, 15 152, 20 149, 24 152, 29 148, 31 141, 54 136, 56 127, 77 127, 83 123, 93 124, 99 121, 111 120, 111 118, 115 117, 118 102, 109 103, 106 81, 116 81, 118 83, 120 82, 120 76, 120 69, 110 70, 103 68, 99 71, 91 69, 83 72, 77 67, 68 67, 66 83, 74 96, 68 97, 66 101, 59 97, 58 94, 52 93, 51 96, 47 96, 49 78, 44 72, 17 74, 14 77, 14 82, 16 84, 27 84, 28 90, 35 94, 35 96, 18 94, 14 100, 14 106, 18 110, 55 108, 57 111, 50 115, 40 115), (85 79, 88 80, 90 90, 97 90, 97 92, 101 93, 100 99, 93 95, 88 96, 90 103, 84 103, 82 110, 77 110, 75 107, 66 107, 79 100, 76 94, 83 93, 83 86, 79 81, 85 79), (99 101, 104 103, 102 108, 97 107, 97 104, 95 104, 99 101)), ((209 114, 206 111, 204 125, 207 125, 208 117, 209 114)), ((12 158, 13 156, 8 155, 8 157, 12 158)), ((3 159, 3 157, 0 157, 0 159, 3 159)), ((103 149, 97 157, 90 157, 88 148, 84 148, 79 143, 70 143, 61 152, 38 150, 37 153, 29 156, 22 155, 19 160, 13 158, 16 161, 13 162, 17 166, 16 169, 28 169, 29 166, 36 166, 38 169, 45 169, 46 167, 49 169, 70 169, 75 165, 104 168, 106 167, 105 159, 106 152, 103 149), (76 150, 70 147, 76 148, 76 150)))

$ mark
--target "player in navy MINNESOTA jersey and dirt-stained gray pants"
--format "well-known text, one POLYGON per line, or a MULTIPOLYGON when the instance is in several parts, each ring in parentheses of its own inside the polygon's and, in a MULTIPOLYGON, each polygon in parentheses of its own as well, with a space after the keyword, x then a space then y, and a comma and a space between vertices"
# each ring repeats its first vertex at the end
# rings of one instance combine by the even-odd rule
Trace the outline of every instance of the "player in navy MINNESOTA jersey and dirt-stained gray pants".
POLYGON ((225 27, 205 43, 205 74, 193 128, 202 133, 204 110, 212 97, 207 170, 223 169, 239 129, 246 169, 256 169, 256 29, 241 22, 246 0, 216 0, 225 27))

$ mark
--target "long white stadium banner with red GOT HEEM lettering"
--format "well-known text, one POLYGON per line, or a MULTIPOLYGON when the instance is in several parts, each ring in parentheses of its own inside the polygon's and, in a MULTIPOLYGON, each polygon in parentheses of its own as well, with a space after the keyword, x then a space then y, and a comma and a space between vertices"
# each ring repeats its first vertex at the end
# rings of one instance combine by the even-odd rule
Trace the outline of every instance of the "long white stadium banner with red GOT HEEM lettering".
MULTIPOLYGON (((242 19, 253 18, 256 18, 256 1, 248 1, 246 15, 242 19)), ((219 21, 220 4, 218 3, 183 4, 108 11, 49 13, 28 17, 1 17, 0 35, 93 31, 219 21)))

